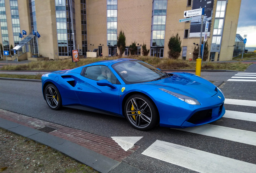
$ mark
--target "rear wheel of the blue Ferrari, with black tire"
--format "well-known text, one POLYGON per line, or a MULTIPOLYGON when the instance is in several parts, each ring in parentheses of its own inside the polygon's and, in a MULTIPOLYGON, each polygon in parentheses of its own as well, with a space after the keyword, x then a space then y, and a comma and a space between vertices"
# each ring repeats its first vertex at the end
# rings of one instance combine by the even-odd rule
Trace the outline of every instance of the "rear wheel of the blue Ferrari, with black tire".
POLYGON ((60 92, 54 84, 48 84, 44 90, 44 98, 47 105, 53 109, 58 110, 62 107, 62 99, 60 92))

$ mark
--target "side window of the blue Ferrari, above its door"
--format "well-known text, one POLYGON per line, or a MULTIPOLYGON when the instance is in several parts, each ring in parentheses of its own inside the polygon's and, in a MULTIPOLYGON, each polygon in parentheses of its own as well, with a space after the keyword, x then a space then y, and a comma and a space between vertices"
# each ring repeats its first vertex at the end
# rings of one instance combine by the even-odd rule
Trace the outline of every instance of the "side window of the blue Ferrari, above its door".
POLYGON ((103 65, 87 67, 84 76, 92 80, 106 79, 112 84, 120 84, 113 72, 107 66, 103 65))

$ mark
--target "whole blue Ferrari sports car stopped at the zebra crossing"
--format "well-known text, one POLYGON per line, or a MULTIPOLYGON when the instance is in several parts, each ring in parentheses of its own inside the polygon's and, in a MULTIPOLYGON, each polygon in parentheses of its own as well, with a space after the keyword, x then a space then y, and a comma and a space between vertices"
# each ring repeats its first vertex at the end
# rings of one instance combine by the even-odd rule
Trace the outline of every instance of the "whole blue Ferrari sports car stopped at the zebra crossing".
POLYGON ((222 91, 208 80, 186 72, 162 72, 135 59, 44 74, 42 91, 51 109, 64 106, 125 117, 139 130, 194 127, 225 113, 222 91))

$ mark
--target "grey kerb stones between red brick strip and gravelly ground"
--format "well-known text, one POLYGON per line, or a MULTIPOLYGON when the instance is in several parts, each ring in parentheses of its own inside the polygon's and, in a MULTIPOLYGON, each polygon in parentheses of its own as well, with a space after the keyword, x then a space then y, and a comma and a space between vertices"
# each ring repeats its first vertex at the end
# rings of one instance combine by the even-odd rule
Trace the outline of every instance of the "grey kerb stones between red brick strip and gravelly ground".
POLYGON ((26 127, 12 121, 0 118, 0 127, 56 149, 101 173, 108 173, 111 169, 114 169, 120 164, 120 162, 116 160, 100 155, 95 151, 89 150, 71 141, 55 137, 48 133, 26 127))

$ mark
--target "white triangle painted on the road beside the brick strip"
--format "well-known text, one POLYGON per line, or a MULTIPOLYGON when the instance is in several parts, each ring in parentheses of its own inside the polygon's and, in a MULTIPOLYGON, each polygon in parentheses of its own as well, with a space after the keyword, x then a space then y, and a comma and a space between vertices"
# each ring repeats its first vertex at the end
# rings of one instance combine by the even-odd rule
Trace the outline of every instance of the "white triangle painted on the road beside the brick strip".
POLYGON ((142 137, 111 137, 124 151, 132 148, 142 137))

